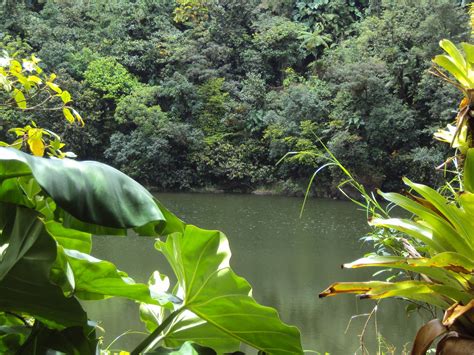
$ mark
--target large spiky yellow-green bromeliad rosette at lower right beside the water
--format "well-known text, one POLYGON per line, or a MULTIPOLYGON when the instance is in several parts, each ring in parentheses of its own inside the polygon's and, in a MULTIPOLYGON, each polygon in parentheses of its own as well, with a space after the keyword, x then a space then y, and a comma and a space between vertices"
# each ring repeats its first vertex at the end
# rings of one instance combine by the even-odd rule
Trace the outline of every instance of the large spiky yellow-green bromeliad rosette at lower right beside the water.
MULTIPOLYGON (((473 153, 470 150, 466 162, 465 186, 470 186, 473 153)), ((320 294, 320 297, 339 293, 361 294, 364 298, 380 299, 402 297, 412 301, 425 302, 443 310, 454 305, 472 303, 473 234, 472 234, 472 194, 469 189, 450 201, 432 188, 415 184, 404 179, 405 184, 420 197, 405 197, 397 193, 380 193, 387 201, 413 213, 415 218, 380 218, 370 220, 375 227, 397 230, 405 236, 403 248, 405 256, 371 255, 346 268, 382 267, 414 272, 419 278, 413 279, 410 273, 402 273, 396 282, 369 281, 362 283, 336 283, 320 294), (419 253, 423 248, 424 256, 419 253)), ((462 318, 468 332, 473 324, 469 314, 447 313, 443 321, 450 326, 455 319, 462 318), (448 321, 448 319, 450 319, 448 321)), ((431 341, 430 341, 431 343, 431 341)))

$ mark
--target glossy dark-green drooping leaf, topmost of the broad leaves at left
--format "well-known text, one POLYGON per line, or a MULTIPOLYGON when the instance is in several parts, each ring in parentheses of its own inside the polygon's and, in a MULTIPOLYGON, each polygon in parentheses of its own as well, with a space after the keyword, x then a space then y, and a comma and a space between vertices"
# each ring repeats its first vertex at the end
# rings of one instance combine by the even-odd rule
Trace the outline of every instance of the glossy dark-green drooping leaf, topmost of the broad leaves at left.
POLYGON ((26 175, 33 175, 58 207, 82 222, 117 229, 164 225, 153 196, 108 165, 38 158, 0 147, 0 180, 26 175))

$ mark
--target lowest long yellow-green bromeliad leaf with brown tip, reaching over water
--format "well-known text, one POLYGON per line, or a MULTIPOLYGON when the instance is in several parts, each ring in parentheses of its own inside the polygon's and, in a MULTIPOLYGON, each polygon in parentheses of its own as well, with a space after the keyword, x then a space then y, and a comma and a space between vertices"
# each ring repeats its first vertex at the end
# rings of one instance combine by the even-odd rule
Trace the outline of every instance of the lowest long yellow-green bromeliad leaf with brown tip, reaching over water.
POLYGON ((337 282, 319 294, 319 297, 352 293, 361 298, 382 299, 389 297, 407 298, 413 301, 426 302, 446 309, 455 302, 468 303, 474 298, 469 292, 453 287, 422 281, 400 282, 337 282))

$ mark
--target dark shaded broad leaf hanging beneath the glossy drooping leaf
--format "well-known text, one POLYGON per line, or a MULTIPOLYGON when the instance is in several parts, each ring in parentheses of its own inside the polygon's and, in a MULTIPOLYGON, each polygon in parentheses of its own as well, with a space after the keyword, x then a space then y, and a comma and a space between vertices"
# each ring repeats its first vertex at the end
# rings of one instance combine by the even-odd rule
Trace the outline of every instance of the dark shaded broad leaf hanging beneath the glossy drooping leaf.
POLYGON ((0 310, 28 313, 50 327, 86 324, 79 302, 50 281, 56 242, 35 211, 17 207, 2 242, 8 247, 0 263, 0 310))

